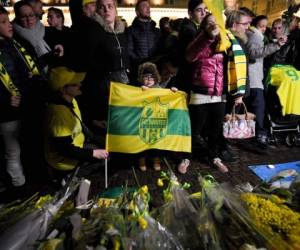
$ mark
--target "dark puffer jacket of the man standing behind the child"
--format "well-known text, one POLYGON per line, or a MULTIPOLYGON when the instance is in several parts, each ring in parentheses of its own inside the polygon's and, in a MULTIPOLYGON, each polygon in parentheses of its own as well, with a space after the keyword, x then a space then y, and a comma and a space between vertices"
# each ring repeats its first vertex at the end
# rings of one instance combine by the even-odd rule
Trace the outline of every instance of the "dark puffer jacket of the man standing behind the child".
POLYGON ((156 54, 160 31, 155 25, 152 20, 145 22, 136 17, 128 28, 128 52, 134 65, 139 65, 156 54))

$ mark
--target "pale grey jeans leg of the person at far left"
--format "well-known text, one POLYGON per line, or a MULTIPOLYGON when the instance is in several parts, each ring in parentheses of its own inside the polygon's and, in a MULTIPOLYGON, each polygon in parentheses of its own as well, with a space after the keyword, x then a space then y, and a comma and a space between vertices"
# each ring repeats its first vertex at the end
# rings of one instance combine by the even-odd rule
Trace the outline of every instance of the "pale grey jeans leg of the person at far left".
POLYGON ((25 183, 19 143, 20 125, 20 121, 0 123, 0 134, 4 141, 6 171, 12 179, 12 185, 16 187, 25 183))

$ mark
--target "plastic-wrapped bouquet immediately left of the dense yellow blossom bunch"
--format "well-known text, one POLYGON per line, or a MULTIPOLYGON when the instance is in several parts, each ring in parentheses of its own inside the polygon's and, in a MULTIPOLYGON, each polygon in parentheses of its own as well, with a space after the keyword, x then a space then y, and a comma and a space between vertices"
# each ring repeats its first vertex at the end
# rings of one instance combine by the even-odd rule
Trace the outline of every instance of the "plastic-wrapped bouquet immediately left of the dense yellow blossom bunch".
MULTIPOLYGON (((257 228, 240 199, 240 192, 213 177, 199 178, 202 186, 198 230, 203 249, 265 249, 270 235, 257 228)), ((283 243, 284 244, 284 243, 283 243)), ((274 248, 276 249, 276 248, 274 248)))

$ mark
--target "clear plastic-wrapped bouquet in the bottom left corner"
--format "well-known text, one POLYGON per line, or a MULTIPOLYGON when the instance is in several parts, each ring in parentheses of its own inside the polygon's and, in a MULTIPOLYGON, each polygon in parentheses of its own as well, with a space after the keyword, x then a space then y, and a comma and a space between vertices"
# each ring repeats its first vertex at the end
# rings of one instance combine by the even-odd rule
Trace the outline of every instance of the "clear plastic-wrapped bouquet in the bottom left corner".
POLYGON ((39 200, 35 209, 8 227, 0 236, 1 249, 34 249, 36 241, 45 237, 53 216, 78 188, 79 181, 72 178, 65 188, 51 199, 39 200))

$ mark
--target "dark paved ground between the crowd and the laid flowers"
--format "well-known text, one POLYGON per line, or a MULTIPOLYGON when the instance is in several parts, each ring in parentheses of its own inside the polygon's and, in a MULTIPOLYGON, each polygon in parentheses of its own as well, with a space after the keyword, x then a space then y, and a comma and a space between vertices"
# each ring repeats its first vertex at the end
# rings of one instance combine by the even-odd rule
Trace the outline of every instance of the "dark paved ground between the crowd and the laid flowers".
MULTIPOLYGON (((212 169, 207 164, 199 162, 197 159, 193 159, 191 166, 187 174, 177 176, 181 182, 189 182, 191 184, 190 192, 199 190, 198 174, 212 174, 219 182, 230 182, 233 185, 249 182, 252 185, 257 185, 260 180, 249 169, 249 165, 257 164, 276 164, 290 161, 300 160, 300 147, 287 147, 285 145, 272 146, 268 150, 253 151, 253 147, 247 141, 232 141, 233 151, 239 155, 239 160, 234 164, 228 164, 230 172, 227 174, 220 173, 216 169, 212 169)), ((156 185, 157 178, 160 173, 155 172, 152 169, 146 172, 136 170, 136 178, 131 167, 131 162, 128 161, 128 157, 119 157, 119 160, 115 160, 109 163, 109 186, 137 186, 147 184, 151 193, 152 203, 157 206, 161 203, 161 188, 156 185)), ((168 162, 171 168, 175 171, 176 165, 174 163, 174 157, 169 157, 168 162)), ((163 165, 163 170, 167 171, 167 166, 163 165)), ((28 172, 29 170, 27 170, 28 172)), ((176 171, 175 171, 176 172, 176 171)), ((48 175, 43 168, 31 169, 28 183, 19 189, 8 190, 0 193, 0 203, 7 203, 17 198, 24 198, 34 194, 37 191, 51 192, 55 185, 49 181, 48 175)), ((90 175, 92 180, 91 196, 100 194, 104 191, 104 170, 99 173, 90 175)))

